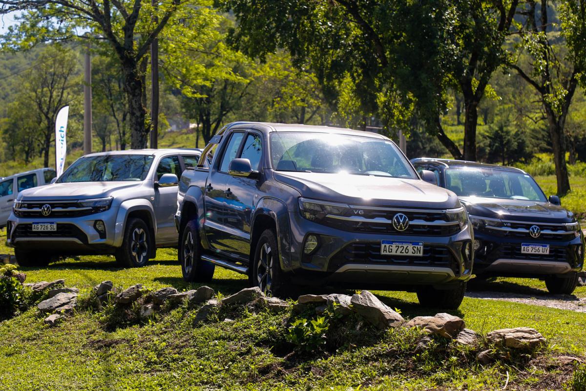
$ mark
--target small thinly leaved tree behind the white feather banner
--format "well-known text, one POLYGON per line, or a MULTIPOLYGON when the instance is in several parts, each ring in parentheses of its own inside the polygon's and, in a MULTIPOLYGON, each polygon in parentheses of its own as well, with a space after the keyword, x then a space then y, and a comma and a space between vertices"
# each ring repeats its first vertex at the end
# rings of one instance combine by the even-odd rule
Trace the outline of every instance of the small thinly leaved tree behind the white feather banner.
POLYGON ((74 78, 79 71, 79 59, 73 50, 47 46, 33 66, 22 77, 22 101, 33 118, 38 118, 38 134, 43 152, 43 164, 49 166, 49 149, 55 134, 55 120, 59 110, 73 103, 74 78))

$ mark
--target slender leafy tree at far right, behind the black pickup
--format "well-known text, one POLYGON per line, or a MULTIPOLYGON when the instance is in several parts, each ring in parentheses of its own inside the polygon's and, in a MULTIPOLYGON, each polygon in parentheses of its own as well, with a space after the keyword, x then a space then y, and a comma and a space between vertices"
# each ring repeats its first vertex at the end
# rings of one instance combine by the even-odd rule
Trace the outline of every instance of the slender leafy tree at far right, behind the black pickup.
POLYGON ((523 22, 517 55, 509 65, 540 96, 556 165, 557 193, 565 195, 570 179, 564 127, 578 84, 586 83, 586 4, 564 0, 558 11, 560 23, 551 25, 550 2, 527 0, 519 12, 523 22))

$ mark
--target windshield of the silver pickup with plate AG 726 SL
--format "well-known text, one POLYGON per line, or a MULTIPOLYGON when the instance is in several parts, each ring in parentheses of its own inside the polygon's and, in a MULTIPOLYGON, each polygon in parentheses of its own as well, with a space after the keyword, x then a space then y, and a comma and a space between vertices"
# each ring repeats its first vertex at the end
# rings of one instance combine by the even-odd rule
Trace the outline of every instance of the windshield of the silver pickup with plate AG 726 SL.
POLYGON ((57 182, 144 181, 152 155, 100 155, 77 159, 57 182))

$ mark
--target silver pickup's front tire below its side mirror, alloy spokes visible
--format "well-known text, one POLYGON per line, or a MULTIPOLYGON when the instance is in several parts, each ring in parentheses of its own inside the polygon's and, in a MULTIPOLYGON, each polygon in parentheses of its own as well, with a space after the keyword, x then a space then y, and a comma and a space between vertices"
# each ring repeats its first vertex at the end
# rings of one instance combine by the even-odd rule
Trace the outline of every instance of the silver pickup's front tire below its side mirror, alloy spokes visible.
POLYGON ((122 267, 145 266, 154 245, 147 223, 131 217, 126 223, 122 247, 116 250, 116 262, 122 267))

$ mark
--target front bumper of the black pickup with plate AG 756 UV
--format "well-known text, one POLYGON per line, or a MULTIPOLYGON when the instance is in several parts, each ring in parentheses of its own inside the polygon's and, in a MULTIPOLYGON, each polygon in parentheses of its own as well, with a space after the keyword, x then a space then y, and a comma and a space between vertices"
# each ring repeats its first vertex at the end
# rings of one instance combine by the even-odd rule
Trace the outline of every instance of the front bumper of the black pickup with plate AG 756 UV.
POLYGON ((581 271, 584 267, 584 238, 571 240, 500 237, 485 230, 476 230, 480 247, 475 251, 476 274, 502 277, 543 278, 581 271), (549 254, 523 254, 521 244, 548 244, 549 254))

